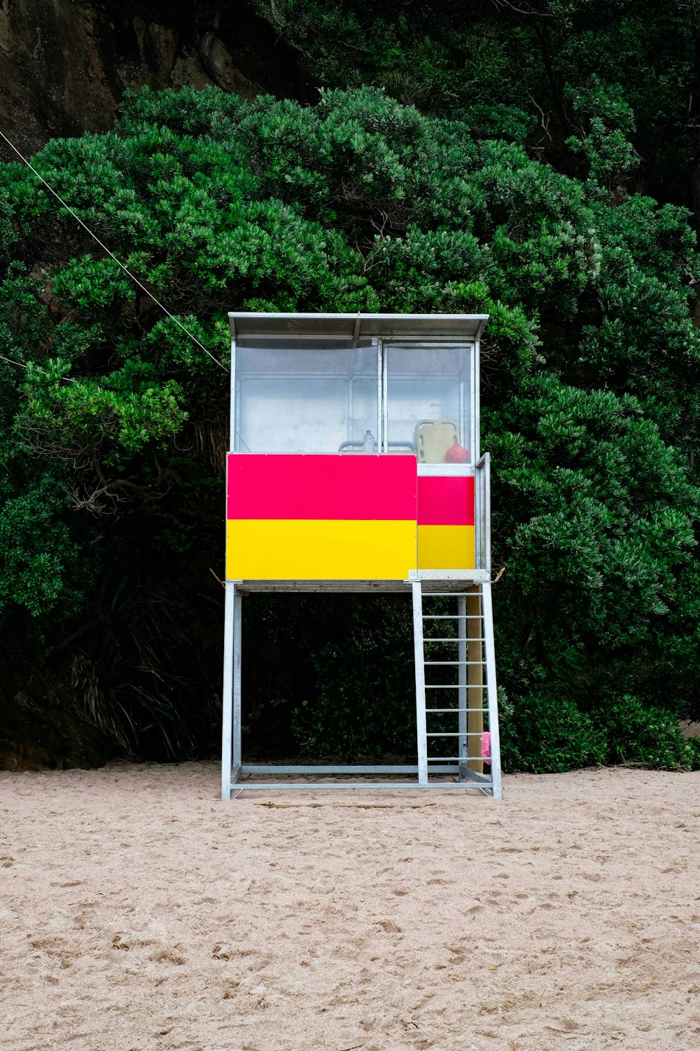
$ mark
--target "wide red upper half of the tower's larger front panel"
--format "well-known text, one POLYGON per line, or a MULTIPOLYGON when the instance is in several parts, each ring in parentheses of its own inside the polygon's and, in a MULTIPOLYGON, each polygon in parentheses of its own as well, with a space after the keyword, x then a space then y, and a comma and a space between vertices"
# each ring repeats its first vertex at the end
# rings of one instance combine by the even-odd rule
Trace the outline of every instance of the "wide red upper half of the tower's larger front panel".
POLYGON ((415 456, 229 455, 229 518, 416 520, 415 456))

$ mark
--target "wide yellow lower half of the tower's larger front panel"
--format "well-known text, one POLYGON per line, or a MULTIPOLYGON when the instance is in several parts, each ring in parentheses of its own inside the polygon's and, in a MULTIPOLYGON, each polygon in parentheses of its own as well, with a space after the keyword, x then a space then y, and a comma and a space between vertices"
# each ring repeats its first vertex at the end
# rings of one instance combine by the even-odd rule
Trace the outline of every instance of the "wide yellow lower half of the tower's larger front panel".
POLYGON ((415 521, 238 518, 227 522, 229 580, 404 580, 415 521))

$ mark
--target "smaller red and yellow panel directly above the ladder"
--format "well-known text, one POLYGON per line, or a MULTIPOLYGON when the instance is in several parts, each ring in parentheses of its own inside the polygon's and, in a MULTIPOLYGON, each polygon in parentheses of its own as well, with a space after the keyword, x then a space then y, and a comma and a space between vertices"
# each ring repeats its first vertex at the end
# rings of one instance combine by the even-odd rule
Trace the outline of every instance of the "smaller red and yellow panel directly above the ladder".
POLYGON ((474 479, 421 475, 418 479, 418 569, 473 570, 474 479))

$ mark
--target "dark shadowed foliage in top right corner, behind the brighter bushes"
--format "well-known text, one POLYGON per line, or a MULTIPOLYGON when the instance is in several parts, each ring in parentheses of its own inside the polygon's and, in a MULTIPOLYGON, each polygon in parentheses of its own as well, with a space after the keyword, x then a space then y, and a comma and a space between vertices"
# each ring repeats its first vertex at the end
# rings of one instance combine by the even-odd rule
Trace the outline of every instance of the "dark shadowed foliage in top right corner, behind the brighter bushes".
POLYGON ((256 0, 320 84, 373 84, 578 178, 690 201, 692 5, 682 0, 256 0), (592 70, 594 70, 592 73, 592 70))

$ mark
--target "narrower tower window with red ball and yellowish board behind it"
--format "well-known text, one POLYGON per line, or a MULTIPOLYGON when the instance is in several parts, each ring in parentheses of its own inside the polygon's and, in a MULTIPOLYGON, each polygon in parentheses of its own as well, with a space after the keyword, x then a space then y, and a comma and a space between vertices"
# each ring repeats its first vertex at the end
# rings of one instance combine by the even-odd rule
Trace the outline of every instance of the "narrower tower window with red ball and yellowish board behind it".
POLYGON ((385 345, 386 451, 471 460, 471 347, 385 345))

